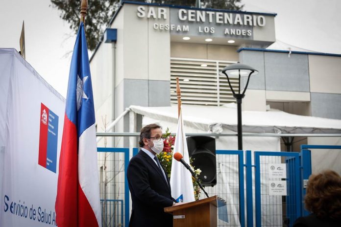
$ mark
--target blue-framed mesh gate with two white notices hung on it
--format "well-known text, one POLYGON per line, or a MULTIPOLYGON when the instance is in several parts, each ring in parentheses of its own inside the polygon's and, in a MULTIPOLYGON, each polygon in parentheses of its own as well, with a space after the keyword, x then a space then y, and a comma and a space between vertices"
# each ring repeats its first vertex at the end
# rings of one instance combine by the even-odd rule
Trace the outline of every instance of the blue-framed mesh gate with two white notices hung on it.
POLYGON ((255 209, 256 226, 292 226, 301 215, 300 169, 299 153, 297 152, 254 152, 255 159, 255 209), (273 178, 269 184, 270 163, 282 163, 281 157, 291 158, 286 163, 287 177, 273 178), (287 185, 286 196, 270 195, 270 190, 276 187, 274 182, 287 185), (284 204, 290 207, 290 214, 284 212, 284 204))

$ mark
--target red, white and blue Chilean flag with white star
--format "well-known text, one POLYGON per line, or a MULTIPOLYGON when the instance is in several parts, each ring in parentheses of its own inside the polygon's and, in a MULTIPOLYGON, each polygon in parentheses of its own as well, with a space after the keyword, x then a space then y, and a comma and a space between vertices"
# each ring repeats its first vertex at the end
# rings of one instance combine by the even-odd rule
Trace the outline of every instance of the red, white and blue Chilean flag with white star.
POLYGON ((100 227, 94 97, 84 24, 70 66, 55 203, 58 227, 100 227))

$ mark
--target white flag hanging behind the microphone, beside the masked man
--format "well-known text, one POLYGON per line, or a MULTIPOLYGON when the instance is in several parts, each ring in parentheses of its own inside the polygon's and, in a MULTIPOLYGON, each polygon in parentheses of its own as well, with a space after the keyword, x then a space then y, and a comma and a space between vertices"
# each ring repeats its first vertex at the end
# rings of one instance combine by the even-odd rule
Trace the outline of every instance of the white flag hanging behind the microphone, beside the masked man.
MULTIPOLYGON (((184 161, 190 164, 181 111, 176 131, 173 154, 176 152, 181 153, 184 161)), ((171 162, 170 188, 171 196, 176 199, 176 201, 184 203, 195 201, 192 175, 190 171, 188 171, 181 162, 174 159, 174 157, 171 162)))

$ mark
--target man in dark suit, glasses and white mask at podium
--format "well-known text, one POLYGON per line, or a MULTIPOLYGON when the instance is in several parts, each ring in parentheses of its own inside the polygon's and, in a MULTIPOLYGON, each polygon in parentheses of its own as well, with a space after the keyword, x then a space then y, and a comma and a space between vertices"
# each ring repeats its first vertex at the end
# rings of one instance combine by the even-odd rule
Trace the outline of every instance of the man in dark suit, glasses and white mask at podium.
POLYGON ((170 181, 156 154, 163 150, 161 127, 149 124, 141 129, 140 152, 130 161, 127 179, 132 200, 129 227, 172 227, 173 217, 164 207, 176 205, 170 181))

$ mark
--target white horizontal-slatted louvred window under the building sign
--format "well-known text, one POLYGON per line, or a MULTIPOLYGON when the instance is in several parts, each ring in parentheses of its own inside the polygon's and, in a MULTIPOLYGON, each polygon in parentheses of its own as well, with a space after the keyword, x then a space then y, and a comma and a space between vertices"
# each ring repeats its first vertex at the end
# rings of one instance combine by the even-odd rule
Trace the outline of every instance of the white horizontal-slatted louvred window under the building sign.
MULTIPOLYGON (((170 103, 177 103, 176 77, 179 77, 183 104, 220 106, 235 102, 226 76, 219 70, 233 61, 170 58, 170 103)), ((238 79, 230 79, 238 90, 238 79)))

